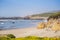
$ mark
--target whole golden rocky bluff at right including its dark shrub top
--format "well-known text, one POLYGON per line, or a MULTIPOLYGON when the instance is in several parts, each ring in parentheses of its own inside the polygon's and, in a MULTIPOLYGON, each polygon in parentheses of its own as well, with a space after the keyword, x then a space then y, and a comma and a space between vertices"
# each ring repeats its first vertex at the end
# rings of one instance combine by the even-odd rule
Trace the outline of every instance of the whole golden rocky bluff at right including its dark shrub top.
POLYGON ((53 31, 60 31, 60 12, 49 16, 47 22, 41 22, 37 26, 38 29, 50 28, 53 31))

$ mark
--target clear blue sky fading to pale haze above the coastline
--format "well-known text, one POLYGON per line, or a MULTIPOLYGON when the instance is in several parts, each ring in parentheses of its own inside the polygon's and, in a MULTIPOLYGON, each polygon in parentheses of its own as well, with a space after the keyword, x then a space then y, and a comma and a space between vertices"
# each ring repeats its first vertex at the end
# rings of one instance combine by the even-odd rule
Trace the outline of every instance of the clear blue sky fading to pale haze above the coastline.
POLYGON ((60 10, 60 0, 0 0, 0 17, 23 17, 57 10, 60 10))

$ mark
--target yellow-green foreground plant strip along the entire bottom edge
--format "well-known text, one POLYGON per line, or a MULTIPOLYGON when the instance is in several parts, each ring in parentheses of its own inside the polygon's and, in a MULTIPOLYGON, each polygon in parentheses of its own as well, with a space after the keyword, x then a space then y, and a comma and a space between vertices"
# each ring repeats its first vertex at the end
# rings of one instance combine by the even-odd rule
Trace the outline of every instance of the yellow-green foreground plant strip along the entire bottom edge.
POLYGON ((60 40, 60 37, 37 37, 37 36, 27 36, 20 38, 11 38, 9 36, 0 37, 0 40, 60 40))

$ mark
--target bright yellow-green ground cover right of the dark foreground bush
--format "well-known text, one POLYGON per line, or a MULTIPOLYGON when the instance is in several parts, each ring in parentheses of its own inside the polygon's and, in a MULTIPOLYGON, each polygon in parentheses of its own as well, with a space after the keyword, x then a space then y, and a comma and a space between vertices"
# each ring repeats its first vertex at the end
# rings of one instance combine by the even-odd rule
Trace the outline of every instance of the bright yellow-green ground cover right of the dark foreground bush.
POLYGON ((24 38, 16 38, 15 40, 60 40, 60 38, 48 38, 48 37, 36 37, 36 36, 29 36, 24 38))

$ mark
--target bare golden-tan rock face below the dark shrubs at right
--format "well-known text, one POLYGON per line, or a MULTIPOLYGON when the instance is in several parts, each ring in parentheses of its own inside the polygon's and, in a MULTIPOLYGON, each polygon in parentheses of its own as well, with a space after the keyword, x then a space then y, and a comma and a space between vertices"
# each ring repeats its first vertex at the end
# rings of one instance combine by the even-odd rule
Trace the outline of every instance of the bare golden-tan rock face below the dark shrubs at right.
POLYGON ((60 30, 60 19, 50 19, 47 22, 39 23, 37 26, 38 29, 50 28, 53 31, 60 30))

